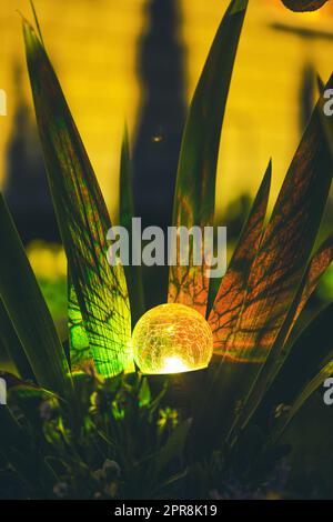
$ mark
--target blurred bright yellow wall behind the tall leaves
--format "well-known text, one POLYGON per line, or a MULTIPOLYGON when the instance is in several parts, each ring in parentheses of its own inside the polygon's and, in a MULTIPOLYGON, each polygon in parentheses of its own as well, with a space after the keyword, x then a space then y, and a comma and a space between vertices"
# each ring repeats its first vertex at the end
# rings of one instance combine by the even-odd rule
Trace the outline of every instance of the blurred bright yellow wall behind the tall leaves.
MULTIPOLYGON (((47 49, 113 218, 124 120, 134 139, 144 99, 137 61, 140 39, 149 29, 148 3, 36 0, 47 49)), ((189 102, 228 1, 176 3, 189 102)), ((0 118, 2 182, 19 97, 31 108, 17 10, 32 19, 28 0, 1 2, 0 88, 8 94, 8 116, 0 118), (18 70, 21 72, 14 72, 18 70)), ((250 0, 222 137, 219 209, 225 209, 240 193, 253 194, 270 157, 274 168, 271 203, 275 199, 300 138, 300 100, 306 70, 326 79, 333 69, 332 13, 331 1, 319 12, 296 14, 283 8, 280 0, 250 0)))

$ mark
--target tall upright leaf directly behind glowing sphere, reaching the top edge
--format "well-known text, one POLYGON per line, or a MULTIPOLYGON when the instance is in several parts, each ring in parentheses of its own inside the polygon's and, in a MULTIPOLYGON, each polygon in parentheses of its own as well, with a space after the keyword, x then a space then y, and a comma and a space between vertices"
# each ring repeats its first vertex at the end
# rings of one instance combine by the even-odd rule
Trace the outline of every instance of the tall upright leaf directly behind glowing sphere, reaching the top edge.
MULTIPOLYGON (((178 167, 173 205, 176 228, 213 224, 215 178, 220 135, 240 34, 248 0, 233 0, 220 24, 189 111, 178 167)), ((209 295, 209 263, 194 264, 195 250, 204 254, 203 244, 192 240, 186 251, 190 263, 182 265, 180 248, 172 252, 176 261, 170 267, 169 302, 195 308, 205 315, 209 295)))

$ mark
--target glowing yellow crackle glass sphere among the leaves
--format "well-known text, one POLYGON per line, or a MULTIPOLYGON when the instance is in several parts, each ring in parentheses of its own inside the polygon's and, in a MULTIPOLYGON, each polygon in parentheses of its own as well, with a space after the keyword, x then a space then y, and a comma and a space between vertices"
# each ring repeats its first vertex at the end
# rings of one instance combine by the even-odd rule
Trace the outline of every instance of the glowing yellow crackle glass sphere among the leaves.
POLYGON ((132 337, 142 373, 181 373, 206 368, 213 335, 206 320, 184 304, 160 304, 138 321, 132 337))

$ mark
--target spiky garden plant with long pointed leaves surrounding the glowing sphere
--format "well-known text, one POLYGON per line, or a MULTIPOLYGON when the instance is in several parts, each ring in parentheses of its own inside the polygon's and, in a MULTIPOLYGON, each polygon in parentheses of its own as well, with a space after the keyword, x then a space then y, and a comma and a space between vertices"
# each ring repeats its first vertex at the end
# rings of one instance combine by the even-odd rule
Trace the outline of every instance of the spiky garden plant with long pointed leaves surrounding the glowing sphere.
MULTIPOLYGON (((248 0, 230 2, 189 108, 176 227, 214 222, 220 137, 246 9, 248 0)), ((332 234, 316 241, 333 172, 333 123, 324 114, 333 79, 319 81, 317 103, 270 217, 268 157, 226 273, 212 284, 204 265, 170 268, 165 303, 205 318, 213 338, 209 367, 143 374, 132 349, 133 328, 147 312, 141 271, 108 263, 107 205, 36 14, 34 22, 33 29, 22 20, 23 37, 68 260, 69 328, 61 342, 0 197, 0 350, 16 369, 1 373, 8 403, 0 405, 0 498, 287 496, 291 448, 283 435, 333 371, 332 304, 302 320, 333 257, 332 234)), ((127 131, 119 201, 119 223, 129 227, 135 214, 127 131)))

